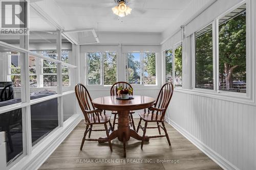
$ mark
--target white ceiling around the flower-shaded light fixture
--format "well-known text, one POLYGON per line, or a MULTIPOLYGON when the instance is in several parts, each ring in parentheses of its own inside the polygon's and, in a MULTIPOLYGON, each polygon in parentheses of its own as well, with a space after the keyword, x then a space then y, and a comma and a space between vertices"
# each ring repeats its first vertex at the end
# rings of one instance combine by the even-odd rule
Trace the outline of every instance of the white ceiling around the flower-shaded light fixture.
MULTIPOLYGON (((132 14, 118 18, 114 0, 55 0, 72 29, 100 32, 163 32, 197 0, 130 0, 132 14)), ((70 28, 71 29, 71 28, 70 28)))

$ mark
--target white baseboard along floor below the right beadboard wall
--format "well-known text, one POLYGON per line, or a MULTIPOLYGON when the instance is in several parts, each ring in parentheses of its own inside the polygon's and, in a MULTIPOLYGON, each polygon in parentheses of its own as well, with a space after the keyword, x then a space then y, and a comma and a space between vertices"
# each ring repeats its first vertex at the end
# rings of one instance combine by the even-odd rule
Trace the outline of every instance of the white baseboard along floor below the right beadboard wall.
POLYGON ((228 160, 223 158, 221 155, 216 153, 214 150, 210 149, 206 144, 202 143, 200 140, 198 140, 196 137, 188 133, 185 129, 180 127, 178 124, 173 122, 171 119, 167 119, 167 121, 170 125, 172 125, 177 131, 179 131, 184 137, 186 137, 191 143, 196 145, 198 149, 200 149, 204 154, 206 154, 209 158, 211 158, 213 161, 215 161, 219 166, 221 166, 223 169, 234 169, 239 170, 238 167, 230 163, 228 160))

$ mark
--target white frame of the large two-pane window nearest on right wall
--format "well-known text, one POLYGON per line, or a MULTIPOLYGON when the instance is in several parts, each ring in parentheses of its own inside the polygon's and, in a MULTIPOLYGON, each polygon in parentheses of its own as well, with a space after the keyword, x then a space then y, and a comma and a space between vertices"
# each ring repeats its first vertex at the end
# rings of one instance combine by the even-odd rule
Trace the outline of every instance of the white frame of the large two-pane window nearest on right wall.
MULTIPOLYGON (((246 103, 246 104, 251 104, 255 105, 255 96, 254 96, 254 90, 252 85, 255 82, 255 71, 253 68, 253 64, 255 64, 255 59, 253 58, 255 52, 253 50, 253 43, 250 35, 254 35, 254 26, 252 23, 255 21, 252 19, 253 17, 251 16, 252 12, 252 7, 250 7, 250 1, 242 1, 239 4, 233 6, 226 12, 224 12, 222 15, 211 21, 210 23, 213 24, 212 28, 212 44, 213 44, 213 61, 214 61, 214 90, 210 89, 200 89, 200 88, 195 88, 195 33, 192 34, 192 41, 191 41, 191 47, 192 47, 192 89, 182 89, 183 91, 191 91, 192 93, 203 95, 203 96, 209 96, 212 98, 216 99, 222 99, 222 100, 227 100, 227 101, 235 101, 239 103, 246 103), (218 19, 221 18, 222 16, 228 14, 229 12, 237 9, 241 5, 246 4, 246 93, 240 93, 240 92, 230 92, 230 91, 221 91, 218 90, 218 74, 219 74, 219 61, 218 61, 218 56, 219 56, 219 45, 218 45, 218 33, 219 33, 219 23, 218 19)), ((209 23, 207 24, 209 25, 209 23)), ((205 26, 207 26, 205 25, 205 26)), ((205 27, 204 26, 204 27, 205 27)), ((202 27, 202 28, 204 28, 202 27)))

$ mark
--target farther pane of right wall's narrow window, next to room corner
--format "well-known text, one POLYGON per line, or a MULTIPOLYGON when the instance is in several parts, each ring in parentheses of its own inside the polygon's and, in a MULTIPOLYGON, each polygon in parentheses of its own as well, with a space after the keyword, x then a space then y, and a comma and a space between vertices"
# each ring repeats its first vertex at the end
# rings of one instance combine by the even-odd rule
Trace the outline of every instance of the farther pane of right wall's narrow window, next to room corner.
POLYGON ((173 82, 173 50, 165 51, 165 82, 173 82))

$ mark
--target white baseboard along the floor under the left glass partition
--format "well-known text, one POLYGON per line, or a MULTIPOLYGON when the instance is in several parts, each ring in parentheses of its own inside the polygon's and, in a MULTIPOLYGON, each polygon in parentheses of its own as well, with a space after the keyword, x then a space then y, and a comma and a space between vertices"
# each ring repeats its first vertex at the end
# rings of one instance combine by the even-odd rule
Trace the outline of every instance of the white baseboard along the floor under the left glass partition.
MULTIPOLYGON (((76 117, 71 117, 70 124, 64 125, 63 127, 57 129, 58 132, 56 134, 52 134, 48 136, 51 138, 51 142, 49 144, 45 144, 47 142, 43 142, 42 146, 36 147, 35 151, 33 150, 31 155, 27 155, 15 165, 13 165, 10 170, 22 169, 22 170, 31 170, 38 169, 42 163, 44 163, 48 157, 55 151, 55 149, 59 146, 59 144, 70 134, 70 132, 79 124, 82 116, 77 115, 76 117)), ((46 139, 46 141, 48 141, 46 139)))

